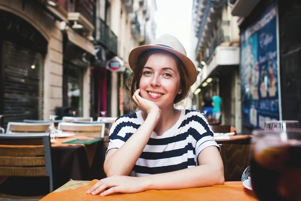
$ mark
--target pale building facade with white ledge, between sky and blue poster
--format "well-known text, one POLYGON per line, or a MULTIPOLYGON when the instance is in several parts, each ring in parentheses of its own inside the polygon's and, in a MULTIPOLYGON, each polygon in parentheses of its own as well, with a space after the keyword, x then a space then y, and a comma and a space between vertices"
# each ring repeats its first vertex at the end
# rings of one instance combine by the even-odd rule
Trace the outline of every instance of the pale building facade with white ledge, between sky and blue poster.
POLYGON ((238 17, 228 1, 195 0, 192 9, 197 45, 198 76, 192 86, 194 109, 202 112, 204 94, 217 92, 223 100, 221 123, 241 132, 238 17))

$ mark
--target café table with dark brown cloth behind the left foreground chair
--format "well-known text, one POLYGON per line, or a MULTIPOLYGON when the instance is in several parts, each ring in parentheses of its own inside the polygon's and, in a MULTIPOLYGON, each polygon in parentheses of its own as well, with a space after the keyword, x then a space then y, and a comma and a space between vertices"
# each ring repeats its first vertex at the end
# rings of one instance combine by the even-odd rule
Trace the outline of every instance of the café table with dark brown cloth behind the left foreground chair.
MULTIPOLYGON (((72 136, 56 138, 57 142, 51 144, 54 189, 62 186, 70 179, 92 180, 105 177, 103 139, 90 145, 63 143, 75 138, 92 139, 85 136, 72 136)), ((20 195, 47 194, 49 181, 47 177, 14 176, 3 181, 0 188, 8 194, 14 194, 16 192, 14 189, 18 189, 20 195), (29 182, 30 185, 28 185, 29 182), (32 189, 37 192, 32 192, 32 189)))

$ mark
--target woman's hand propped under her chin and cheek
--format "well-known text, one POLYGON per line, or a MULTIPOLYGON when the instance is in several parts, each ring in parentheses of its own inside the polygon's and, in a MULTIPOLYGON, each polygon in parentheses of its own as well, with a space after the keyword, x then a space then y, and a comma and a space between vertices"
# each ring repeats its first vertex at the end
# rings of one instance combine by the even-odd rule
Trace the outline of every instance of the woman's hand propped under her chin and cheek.
POLYGON ((140 89, 137 89, 133 95, 133 100, 137 104, 137 106, 145 112, 146 114, 149 114, 151 112, 156 112, 161 115, 160 108, 152 101, 142 98, 139 95, 140 89))

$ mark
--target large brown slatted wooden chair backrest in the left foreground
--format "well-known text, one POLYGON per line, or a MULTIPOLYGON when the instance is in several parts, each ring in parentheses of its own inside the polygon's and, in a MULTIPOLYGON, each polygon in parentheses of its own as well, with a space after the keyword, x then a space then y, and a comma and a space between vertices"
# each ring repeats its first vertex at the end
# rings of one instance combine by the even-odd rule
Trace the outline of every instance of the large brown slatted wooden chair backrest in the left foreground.
POLYGON ((0 176, 48 176, 52 192, 50 134, 0 134, 0 176))

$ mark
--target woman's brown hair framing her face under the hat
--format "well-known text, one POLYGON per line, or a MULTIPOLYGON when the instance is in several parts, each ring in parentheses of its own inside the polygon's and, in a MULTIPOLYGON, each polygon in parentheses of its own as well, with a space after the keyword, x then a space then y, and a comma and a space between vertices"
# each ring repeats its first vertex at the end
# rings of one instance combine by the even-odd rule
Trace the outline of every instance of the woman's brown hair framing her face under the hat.
POLYGON ((131 97, 130 108, 131 108, 132 112, 137 108, 134 100, 132 99, 132 96, 133 96, 134 92, 139 88, 139 82, 140 82, 140 78, 142 75, 143 66, 145 65, 148 57, 155 53, 166 53, 166 54, 171 55, 176 60, 177 67, 178 67, 179 74, 180 74, 180 88, 181 88, 182 92, 180 94, 177 93, 175 100, 174 100, 174 104, 179 103, 181 100, 186 98, 189 94, 190 82, 189 82, 189 78, 188 78, 187 69, 185 68, 183 62, 176 55, 174 55, 173 53, 170 53, 168 51, 161 50, 161 49, 149 49, 149 50, 142 52, 142 54, 139 56, 136 64, 132 68, 133 72, 126 79, 127 92, 128 92, 128 95, 131 97))

